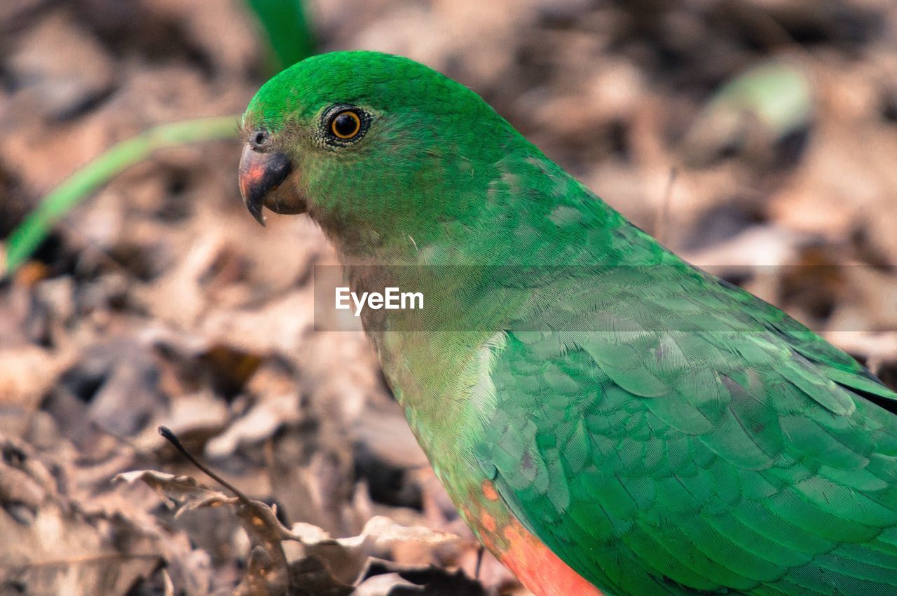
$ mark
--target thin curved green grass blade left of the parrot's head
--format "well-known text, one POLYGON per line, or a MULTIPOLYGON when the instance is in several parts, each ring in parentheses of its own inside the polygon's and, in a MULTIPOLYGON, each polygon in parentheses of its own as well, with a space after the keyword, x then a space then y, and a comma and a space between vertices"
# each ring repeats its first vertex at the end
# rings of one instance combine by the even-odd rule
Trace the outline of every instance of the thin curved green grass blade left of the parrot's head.
MULTIPOLYGON (((235 138, 239 116, 199 118, 152 127, 113 146, 54 188, 37 209, 10 234, 6 242, 6 273, 12 273, 40 246, 53 226, 92 191, 119 172, 168 147, 235 138)), ((2 273, 2 272, 0 272, 2 273)))

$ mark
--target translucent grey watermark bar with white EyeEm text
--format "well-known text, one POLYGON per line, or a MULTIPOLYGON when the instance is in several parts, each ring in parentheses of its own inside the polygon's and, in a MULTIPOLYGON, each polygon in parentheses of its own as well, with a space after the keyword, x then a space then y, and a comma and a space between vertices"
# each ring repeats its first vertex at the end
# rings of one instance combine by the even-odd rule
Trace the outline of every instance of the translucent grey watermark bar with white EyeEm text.
POLYGON ((710 271, 722 278, 676 264, 316 266, 314 327, 649 335, 897 331, 897 285, 861 287, 863 267, 740 266, 710 271), (875 318, 856 309, 839 311, 845 301, 838 293, 845 288, 853 296, 877 293, 875 318), (806 299, 807 292, 813 300, 806 299), (773 305, 785 312, 793 308, 795 319, 773 305))

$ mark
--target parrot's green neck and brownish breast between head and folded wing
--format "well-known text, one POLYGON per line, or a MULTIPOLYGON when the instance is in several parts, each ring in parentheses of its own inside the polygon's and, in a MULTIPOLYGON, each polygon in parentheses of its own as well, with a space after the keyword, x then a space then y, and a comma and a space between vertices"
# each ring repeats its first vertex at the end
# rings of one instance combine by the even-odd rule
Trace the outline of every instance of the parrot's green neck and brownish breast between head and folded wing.
POLYGON ((489 374, 503 333, 511 321, 540 320, 539 312, 565 299, 551 291, 553 276, 682 265, 541 153, 509 155, 496 170, 478 200, 464 199, 467 209, 439 220, 316 218, 353 291, 382 291, 388 279, 424 296, 422 311, 361 313, 422 443, 463 442, 482 431, 477 422, 488 419, 483 408, 491 402, 489 374))

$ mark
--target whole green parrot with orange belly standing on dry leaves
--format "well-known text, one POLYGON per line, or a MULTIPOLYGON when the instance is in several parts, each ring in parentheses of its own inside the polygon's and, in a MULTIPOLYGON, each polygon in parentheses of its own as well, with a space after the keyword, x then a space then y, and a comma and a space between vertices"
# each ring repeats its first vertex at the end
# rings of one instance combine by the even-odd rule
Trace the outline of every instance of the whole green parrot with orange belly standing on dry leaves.
MULTIPOLYGON (((570 118, 576 118, 571 114, 570 118)), ((897 594, 897 394, 627 222, 479 96, 337 52, 249 103, 249 211, 307 214, 467 524, 537 596, 897 594)))

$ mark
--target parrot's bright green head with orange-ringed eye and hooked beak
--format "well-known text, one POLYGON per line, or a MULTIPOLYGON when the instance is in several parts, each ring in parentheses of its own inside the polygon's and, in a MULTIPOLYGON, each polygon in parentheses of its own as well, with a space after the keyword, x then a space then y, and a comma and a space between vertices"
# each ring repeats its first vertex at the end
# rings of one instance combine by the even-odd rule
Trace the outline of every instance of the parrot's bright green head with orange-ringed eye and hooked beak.
POLYGON ((239 188, 332 236, 388 243, 470 217, 495 163, 528 145, 475 92, 404 57, 335 52, 268 81, 241 123, 239 188))

